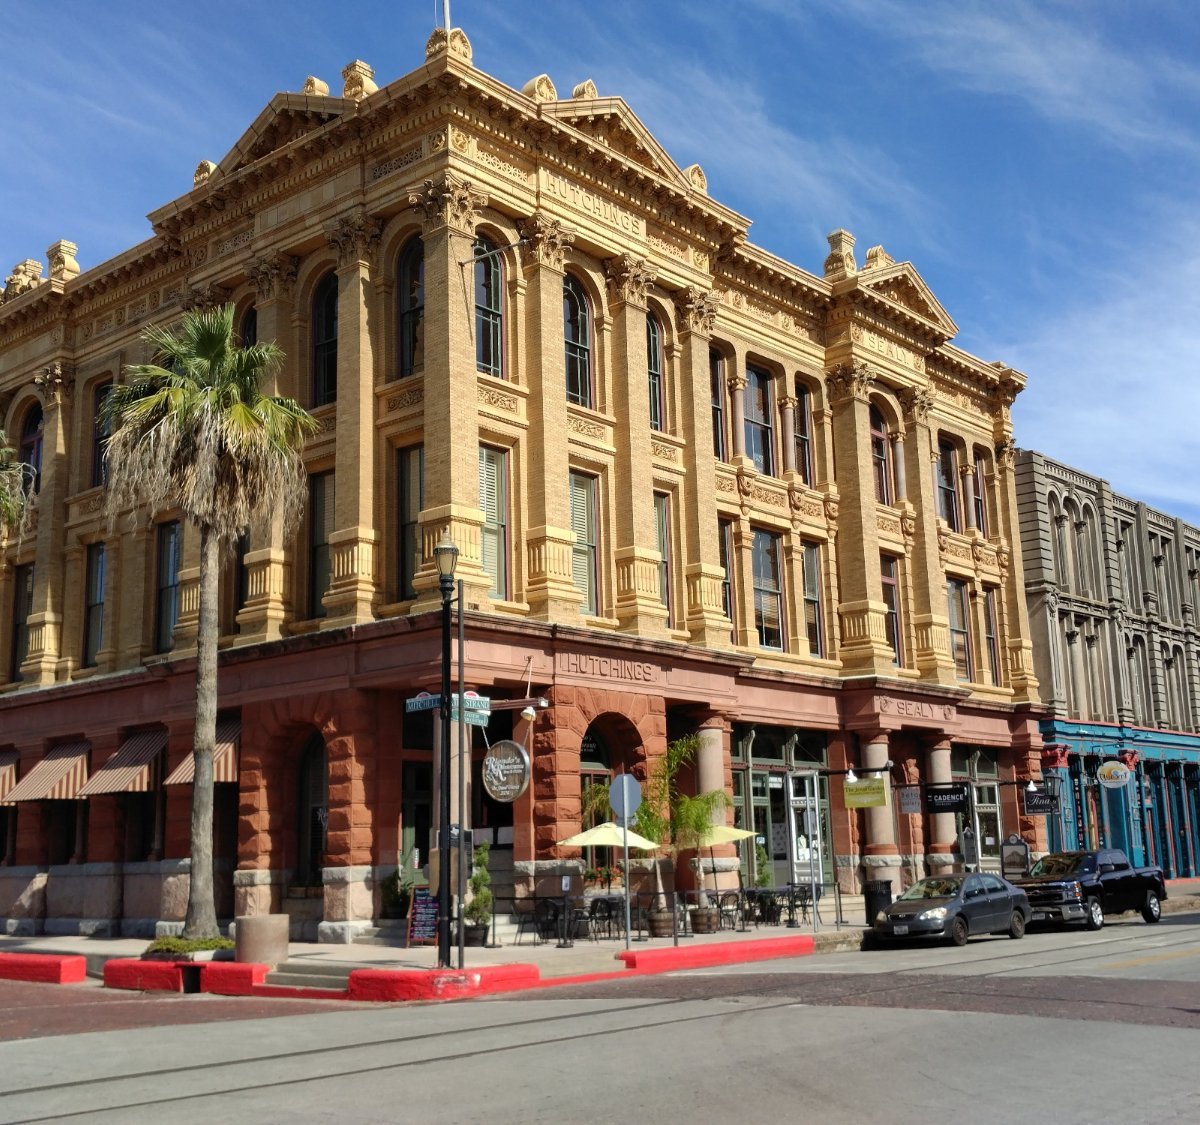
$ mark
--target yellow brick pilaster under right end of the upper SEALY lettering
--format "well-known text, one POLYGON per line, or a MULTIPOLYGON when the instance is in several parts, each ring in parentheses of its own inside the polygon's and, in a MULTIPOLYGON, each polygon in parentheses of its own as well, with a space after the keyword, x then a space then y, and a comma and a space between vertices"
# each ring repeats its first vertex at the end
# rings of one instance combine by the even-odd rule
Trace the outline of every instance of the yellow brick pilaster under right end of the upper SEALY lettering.
POLYGON ((900 402, 908 423, 910 440, 905 441, 905 456, 911 470, 908 481, 916 481, 910 492, 917 519, 908 564, 914 608, 913 663, 924 680, 955 684, 958 679, 950 655, 946 572, 942 570, 937 543, 937 497, 934 492, 934 474, 930 471, 936 452, 929 425, 934 396, 928 390, 918 389, 901 393, 900 402))

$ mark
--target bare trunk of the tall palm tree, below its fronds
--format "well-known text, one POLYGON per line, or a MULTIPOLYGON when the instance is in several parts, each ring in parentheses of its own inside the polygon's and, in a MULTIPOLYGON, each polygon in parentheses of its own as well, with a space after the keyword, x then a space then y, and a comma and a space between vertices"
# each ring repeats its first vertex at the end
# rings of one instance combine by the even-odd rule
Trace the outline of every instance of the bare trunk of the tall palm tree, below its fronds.
POLYGON ((212 890, 212 756, 217 740, 217 592, 220 540, 200 528, 199 627, 196 637, 196 733, 192 756, 192 877, 187 891, 185 938, 215 938, 212 890))

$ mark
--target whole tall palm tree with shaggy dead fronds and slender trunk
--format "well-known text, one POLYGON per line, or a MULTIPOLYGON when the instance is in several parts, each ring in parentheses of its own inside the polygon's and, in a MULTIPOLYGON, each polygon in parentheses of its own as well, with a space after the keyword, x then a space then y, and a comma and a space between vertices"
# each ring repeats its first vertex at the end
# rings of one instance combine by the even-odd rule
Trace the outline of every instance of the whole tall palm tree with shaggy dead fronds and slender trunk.
POLYGON ((192 753, 191 885, 185 938, 218 934, 212 890, 212 753, 217 722, 217 606, 221 554, 272 515, 284 533, 304 506, 300 452, 317 421, 260 383, 283 359, 274 343, 239 347, 232 305, 185 313, 175 329, 142 333, 154 363, 125 368, 104 401, 109 519, 144 506, 178 509, 200 540, 192 753))

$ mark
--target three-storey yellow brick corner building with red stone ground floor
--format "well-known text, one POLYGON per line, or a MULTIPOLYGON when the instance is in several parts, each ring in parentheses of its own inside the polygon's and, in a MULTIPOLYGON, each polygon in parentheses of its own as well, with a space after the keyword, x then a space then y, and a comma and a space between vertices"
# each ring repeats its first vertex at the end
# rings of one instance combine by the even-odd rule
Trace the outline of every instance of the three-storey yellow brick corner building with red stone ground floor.
POLYGON ((959 862, 954 814, 900 801, 956 778, 989 842, 1038 843, 1025 378, 955 348, 911 264, 845 230, 820 273, 773 257, 619 97, 510 89, 457 29, 383 88, 356 61, 341 96, 276 95, 150 223, 83 273, 55 243, 0 302, 4 421, 40 474, 0 574, 10 932, 182 918, 197 542, 172 512, 104 522, 96 417, 145 325, 226 301, 322 428, 300 534, 264 513, 226 576, 222 914, 350 940, 427 858, 434 735, 404 700, 438 690, 445 533, 467 686, 550 703, 493 710, 488 738, 532 751, 515 804, 473 751, 463 819, 518 890, 580 872, 554 843, 584 784, 694 730, 688 784, 762 846, 719 849, 726 882, 792 878, 818 840, 847 888, 959 862), (847 810, 852 769, 888 804, 847 810))

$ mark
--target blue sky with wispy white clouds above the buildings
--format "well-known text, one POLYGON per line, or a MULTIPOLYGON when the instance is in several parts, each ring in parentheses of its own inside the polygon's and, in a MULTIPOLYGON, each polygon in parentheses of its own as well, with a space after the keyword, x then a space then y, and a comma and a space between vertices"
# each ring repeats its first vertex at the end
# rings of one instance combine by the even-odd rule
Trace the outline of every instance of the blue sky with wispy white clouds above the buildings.
MULTIPOLYGON (((278 90, 418 67, 440 0, 0 7, 0 267, 150 233, 278 90)), ((1030 377, 1019 444, 1200 525, 1200 4, 454 0, 475 65, 620 95, 757 245, 911 260, 1030 377)))

